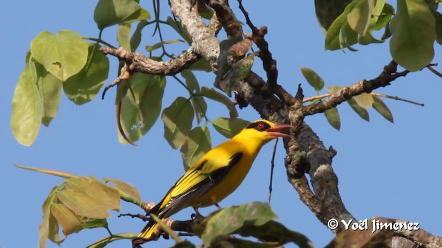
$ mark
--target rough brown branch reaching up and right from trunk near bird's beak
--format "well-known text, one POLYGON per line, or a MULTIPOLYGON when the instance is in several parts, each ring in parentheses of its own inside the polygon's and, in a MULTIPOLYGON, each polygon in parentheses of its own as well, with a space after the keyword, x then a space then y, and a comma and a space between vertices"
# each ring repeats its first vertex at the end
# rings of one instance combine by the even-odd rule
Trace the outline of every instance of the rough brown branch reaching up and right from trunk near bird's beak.
POLYGON ((351 99, 353 96, 372 92, 372 90, 375 90, 378 87, 385 87, 390 85, 390 83, 396 80, 398 77, 406 76, 408 74, 407 70, 403 72, 396 72, 396 69, 397 63, 392 61, 390 64, 385 65, 383 72, 376 77, 376 79, 372 79, 370 81, 363 79, 359 81, 359 83, 343 87, 335 94, 332 94, 332 96, 330 96, 328 99, 325 99, 325 101, 302 107, 302 113, 307 116, 325 112, 325 110, 336 107, 336 105, 351 99))

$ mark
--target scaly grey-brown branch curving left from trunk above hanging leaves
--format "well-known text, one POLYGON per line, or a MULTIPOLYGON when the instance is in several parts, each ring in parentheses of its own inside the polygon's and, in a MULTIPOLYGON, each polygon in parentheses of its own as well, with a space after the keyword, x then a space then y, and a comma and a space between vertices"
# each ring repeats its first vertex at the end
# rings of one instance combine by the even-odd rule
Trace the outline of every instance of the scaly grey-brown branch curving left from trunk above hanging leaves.
POLYGON ((201 56, 195 52, 183 52, 176 59, 170 61, 154 61, 144 56, 140 52, 128 52, 123 48, 106 48, 99 49, 104 54, 111 54, 123 60, 128 65, 129 72, 142 72, 153 75, 174 75, 186 68, 189 68, 193 63, 198 61, 201 56))

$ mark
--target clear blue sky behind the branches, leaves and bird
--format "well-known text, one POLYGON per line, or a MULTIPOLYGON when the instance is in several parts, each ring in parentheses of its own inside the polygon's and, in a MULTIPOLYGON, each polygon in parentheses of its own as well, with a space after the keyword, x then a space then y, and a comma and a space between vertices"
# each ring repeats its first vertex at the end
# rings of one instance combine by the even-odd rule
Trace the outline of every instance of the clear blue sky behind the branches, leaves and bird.
MULTIPOLYGON (((50 127, 41 127, 37 141, 31 147, 19 145, 10 130, 11 101, 30 41, 44 30, 58 32, 73 30, 81 35, 97 37, 93 22, 96 1, 1 1, 3 23, 1 48, 3 63, 0 91, 0 188, 3 204, 0 211, 2 235, 0 247, 35 247, 41 222, 41 204, 60 178, 28 172, 13 164, 57 169, 79 175, 98 178, 117 178, 131 183, 140 190, 146 201, 158 201, 182 173, 180 152, 171 149, 163 138, 161 120, 138 142, 138 147, 121 145, 117 141, 114 114, 114 90, 106 99, 77 107, 61 97, 59 113, 50 127)), ((151 11, 151 3, 142 4, 151 11)), ((317 25, 314 5, 311 1, 284 5, 244 3, 255 25, 267 25, 273 57, 278 60, 278 82, 289 92, 296 93, 302 83, 306 96, 316 94, 300 73, 300 67, 314 69, 327 85, 348 85, 360 79, 372 79, 391 61, 388 42, 355 48, 359 52, 325 51, 324 34, 317 25)), ((231 1, 233 8, 236 1, 231 1)), ((162 6, 166 10, 167 5, 162 6)), ((151 11, 152 12, 152 11, 151 11)), ((163 16, 164 18, 166 16, 163 16)), ((242 15, 238 15, 243 20, 242 15)), ((165 31, 166 32, 166 31, 165 31)), ((144 45, 157 42, 151 33, 144 34, 144 45)), ((166 36, 171 36, 168 32, 166 36)), ((106 41, 116 45, 115 29, 104 33, 106 41)), ((171 39, 176 39, 172 37, 171 39)), ((167 38, 166 38, 167 39, 167 38)), ((171 47, 173 48, 173 47, 171 47)), ((179 47, 180 48, 180 47, 179 47)), ((181 49, 181 48, 180 48, 181 49)), ((184 47, 182 48, 185 49, 184 47)), ((442 61, 439 45, 436 45, 435 63, 442 61)), ((116 61, 111 60, 111 72, 106 82, 116 76, 116 61)), ((262 73, 259 60, 253 70, 262 73)), ((441 70, 440 68, 436 68, 441 70)), ((200 85, 211 87, 213 74, 198 74, 200 85)), ((186 96, 186 91, 172 79, 168 79, 163 100, 169 106, 176 96, 186 96)), ((391 86, 376 90, 383 94, 400 96, 425 103, 425 107, 385 99, 394 115, 394 124, 385 121, 374 110, 369 110, 370 122, 363 121, 347 103, 338 107, 341 116, 340 132, 334 130, 323 114, 309 116, 306 122, 328 147, 332 145, 338 154, 333 167, 339 178, 339 190, 347 209, 363 220, 373 216, 406 219, 419 222, 420 227, 432 234, 442 235, 439 214, 441 200, 439 190, 442 169, 439 162, 442 139, 440 101, 442 80, 423 70, 398 79, 391 86)), ((259 118, 251 107, 238 110, 240 117, 253 121, 259 118)), ((209 118, 227 116, 222 105, 209 105, 209 118)), ((211 130, 213 144, 225 141, 211 130)), ((238 205, 256 200, 265 201, 268 196, 271 150, 269 144, 256 158, 250 174, 240 188, 220 205, 238 205)), ((303 205, 296 191, 287 183, 283 167, 282 145, 276 156, 272 208, 279 221, 290 229, 307 235, 316 247, 323 247, 333 237, 331 231, 320 224, 303 205)), ((140 209, 122 203, 122 213, 140 212, 140 209)), ((209 213, 214 208, 203 209, 209 213)), ((186 219, 191 214, 186 209, 175 219, 186 219)), ((110 228, 113 232, 138 232, 144 223, 131 218, 117 218, 113 213, 110 228)), ((62 247, 85 247, 106 236, 104 229, 85 230, 69 236, 62 247)), ((172 245, 171 240, 160 240, 149 247, 172 245)), ((127 247, 129 241, 116 242, 109 247, 127 247)), ((56 247, 48 242, 48 247, 56 247)))

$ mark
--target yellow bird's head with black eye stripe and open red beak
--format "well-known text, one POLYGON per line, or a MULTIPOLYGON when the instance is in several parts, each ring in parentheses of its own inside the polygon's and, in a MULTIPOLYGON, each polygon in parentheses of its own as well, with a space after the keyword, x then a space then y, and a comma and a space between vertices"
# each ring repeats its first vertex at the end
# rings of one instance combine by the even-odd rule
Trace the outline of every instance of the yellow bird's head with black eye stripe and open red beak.
POLYGON ((288 134, 282 133, 282 130, 294 127, 292 125, 275 124, 267 120, 253 121, 245 127, 239 134, 238 138, 249 141, 258 141, 262 145, 271 141, 273 138, 284 137, 289 138, 288 134))

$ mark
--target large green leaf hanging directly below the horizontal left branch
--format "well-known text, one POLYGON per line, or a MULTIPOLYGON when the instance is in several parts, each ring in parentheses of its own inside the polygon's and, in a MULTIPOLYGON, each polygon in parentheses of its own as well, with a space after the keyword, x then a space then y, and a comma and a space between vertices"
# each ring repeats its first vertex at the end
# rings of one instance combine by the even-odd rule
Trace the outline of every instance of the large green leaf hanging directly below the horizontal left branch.
MULTIPOLYGON (((132 91, 127 91, 122 99, 120 119, 126 136, 138 141, 160 116, 166 78, 135 73, 129 83, 132 91)), ((126 143, 119 133, 118 138, 120 143, 126 143)))

